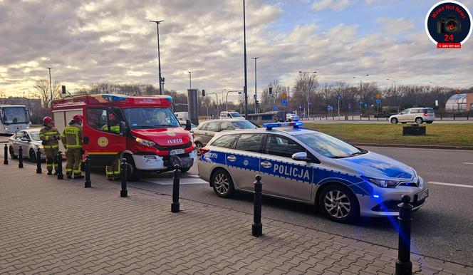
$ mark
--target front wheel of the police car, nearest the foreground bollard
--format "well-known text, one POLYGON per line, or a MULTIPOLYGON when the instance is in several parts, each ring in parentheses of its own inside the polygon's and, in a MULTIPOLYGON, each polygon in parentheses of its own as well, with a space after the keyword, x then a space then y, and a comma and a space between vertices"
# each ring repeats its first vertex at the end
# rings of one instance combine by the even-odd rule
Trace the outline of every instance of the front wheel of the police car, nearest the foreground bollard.
POLYGON ((343 185, 329 185, 319 199, 319 209, 334 222, 353 222, 360 215, 355 195, 343 185))

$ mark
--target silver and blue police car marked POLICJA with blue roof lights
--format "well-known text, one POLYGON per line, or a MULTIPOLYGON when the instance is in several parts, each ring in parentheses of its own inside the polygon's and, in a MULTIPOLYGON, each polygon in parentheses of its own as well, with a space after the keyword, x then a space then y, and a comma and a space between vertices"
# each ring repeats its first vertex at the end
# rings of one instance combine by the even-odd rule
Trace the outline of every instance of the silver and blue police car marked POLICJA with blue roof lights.
POLYGON ((259 174, 264 195, 314 204, 336 222, 397 216, 402 194, 414 210, 425 204, 429 190, 412 167, 301 125, 219 133, 200 150, 199 177, 231 197, 253 192, 259 174))

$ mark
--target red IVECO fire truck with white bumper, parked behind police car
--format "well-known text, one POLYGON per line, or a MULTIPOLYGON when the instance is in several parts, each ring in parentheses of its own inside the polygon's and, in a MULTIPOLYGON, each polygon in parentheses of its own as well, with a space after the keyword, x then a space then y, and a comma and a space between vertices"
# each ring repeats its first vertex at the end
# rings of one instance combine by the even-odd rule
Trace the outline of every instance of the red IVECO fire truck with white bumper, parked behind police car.
POLYGON ((128 178, 138 180, 140 171, 164 172, 175 165, 187 172, 196 160, 190 121, 182 128, 171 104, 169 95, 78 95, 55 100, 52 111, 60 133, 73 115, 83 115, 83 150, 91 165, 125 157, 128 178))

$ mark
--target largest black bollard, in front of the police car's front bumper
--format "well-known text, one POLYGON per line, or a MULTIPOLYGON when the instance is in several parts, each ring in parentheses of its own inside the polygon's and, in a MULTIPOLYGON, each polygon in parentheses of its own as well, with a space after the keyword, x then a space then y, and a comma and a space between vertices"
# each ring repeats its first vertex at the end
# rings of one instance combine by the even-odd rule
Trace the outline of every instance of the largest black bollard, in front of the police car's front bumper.
POLYGON ((403 194, 401 203, 398 204, 399 211, 399 248, 396 260, 396 275, 412 274, 412 262, 410 261, 410 222, 412 221, 412 204, 410 197, 403 194))

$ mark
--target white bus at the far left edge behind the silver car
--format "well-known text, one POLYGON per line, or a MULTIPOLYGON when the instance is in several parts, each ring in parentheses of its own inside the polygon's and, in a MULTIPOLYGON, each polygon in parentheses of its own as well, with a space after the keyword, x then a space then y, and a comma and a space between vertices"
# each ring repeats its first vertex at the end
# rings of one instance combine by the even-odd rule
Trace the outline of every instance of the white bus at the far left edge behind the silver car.
POLYGON ((26 105, 0 105, 0 134, 14 134, 29 128, 30 115, 26 105))

